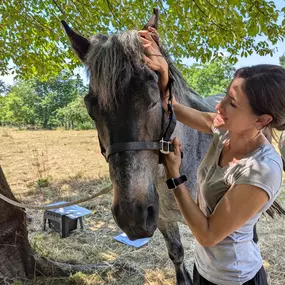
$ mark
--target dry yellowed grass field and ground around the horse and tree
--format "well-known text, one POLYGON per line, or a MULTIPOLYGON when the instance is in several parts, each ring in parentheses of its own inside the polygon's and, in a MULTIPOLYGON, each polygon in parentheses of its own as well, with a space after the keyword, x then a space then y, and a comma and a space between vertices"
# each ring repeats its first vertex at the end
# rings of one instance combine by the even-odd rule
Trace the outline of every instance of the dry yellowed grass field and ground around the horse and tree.
MULTIPOLYGON (((109 183, 96 131, 19 131, 0 128, 0 164, 13 193, 23 203, 70 201, 99 191, 109 183)), ((134 249, 116 242, 121 230, 111 215, 112 193, 83 203, 92 210, 84 230, 60 239, 42 230, 43 211, 27 210, 29 239, 40 254, 69 263, 104 263, 92 275, 38 278, 31 284, 175 284, 175 272, 162 235, 156 231, 147 246, 134 249)), ((285 206, 285 193, 279 202, 285 206)), ((192 271, 194 239, 180 225, 188 270, 192 271)), ((285 284, 285 218, 262 217, 259 245, 269 284, 285 284)))

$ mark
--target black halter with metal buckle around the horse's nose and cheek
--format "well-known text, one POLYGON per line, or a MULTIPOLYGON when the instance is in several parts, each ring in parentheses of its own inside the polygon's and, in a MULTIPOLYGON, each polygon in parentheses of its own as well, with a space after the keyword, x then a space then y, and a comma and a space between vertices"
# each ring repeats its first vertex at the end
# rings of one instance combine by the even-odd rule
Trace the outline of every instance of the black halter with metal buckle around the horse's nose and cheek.
MULTIPOLYGON (((169 152, 174 151, 173 144, 171 143, 171 135, 175 129, 176 126, 176 116, 173 110, 172 105, 172 80, 169 81, 168 88, 169 88, 169 98, 168 98, 168 104, 167 104, 167 111, 168 116, 163 116, 163 120, 165 117, 168 117, 168 125, 161 137, 160 141, 129 141, 129 142, 118 142, 113 143, 110 146, 105 149, 101 143, 100 137, 99 143, 101 148, 101 153, 105 157, 106 161, 109 161, 110 155, 117 153, 117 152, 123 152, 128 150, 159 150, 163 154, 168 154, 169 152)), ((161 156, 159 158, 159 163, 161 163, 161 156)))

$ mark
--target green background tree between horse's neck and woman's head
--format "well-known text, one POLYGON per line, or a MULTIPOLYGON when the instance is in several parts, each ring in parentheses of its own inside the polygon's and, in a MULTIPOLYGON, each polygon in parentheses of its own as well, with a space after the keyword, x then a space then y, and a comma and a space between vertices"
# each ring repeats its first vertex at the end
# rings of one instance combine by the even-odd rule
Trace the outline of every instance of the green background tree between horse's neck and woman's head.
POLYGON ((207 64, 194 64, 183 69, 188 84, 201 96, 225 94, 235 68, 227 58, 207 64))

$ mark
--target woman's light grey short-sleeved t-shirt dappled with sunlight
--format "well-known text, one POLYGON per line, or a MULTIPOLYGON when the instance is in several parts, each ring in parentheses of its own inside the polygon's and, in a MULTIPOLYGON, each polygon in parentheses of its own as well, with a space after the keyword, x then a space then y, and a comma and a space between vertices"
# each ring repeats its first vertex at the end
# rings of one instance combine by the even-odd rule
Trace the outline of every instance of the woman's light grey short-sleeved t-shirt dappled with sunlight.
POLYGON ((241 285, 262 266, 260 248, 253 242, 253 227, 280 193, 282 160, 271 144, 264 144, 236 164, 220 167, 219 158, 228 134, 213 128, 213 135, 198 169, 198 201, 204 214, 211 215, 233 184, 255 185, 269 197, 255 216, 217 245, 203 247, 196 242, 195 264, 201 276, 218 285, 241 285))

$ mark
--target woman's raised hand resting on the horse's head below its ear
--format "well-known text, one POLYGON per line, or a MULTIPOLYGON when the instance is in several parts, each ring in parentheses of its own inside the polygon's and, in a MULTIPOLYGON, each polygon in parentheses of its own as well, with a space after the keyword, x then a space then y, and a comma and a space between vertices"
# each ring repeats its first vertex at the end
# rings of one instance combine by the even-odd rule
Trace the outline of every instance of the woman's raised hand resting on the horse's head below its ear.
POLYGON ((158 71, 160 78, 158 80, 159 89, 166 93, 168 88, 168 63, 161 54, 157 44, 159 36, 156 29, 148 27, 148 31, 143 30, 138 32, 142 39, 142 44, 145 49, 144 61, 146 65, 154 71, 158 71))

